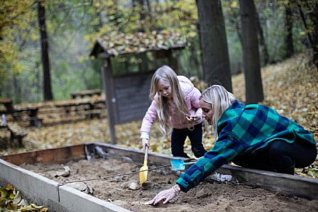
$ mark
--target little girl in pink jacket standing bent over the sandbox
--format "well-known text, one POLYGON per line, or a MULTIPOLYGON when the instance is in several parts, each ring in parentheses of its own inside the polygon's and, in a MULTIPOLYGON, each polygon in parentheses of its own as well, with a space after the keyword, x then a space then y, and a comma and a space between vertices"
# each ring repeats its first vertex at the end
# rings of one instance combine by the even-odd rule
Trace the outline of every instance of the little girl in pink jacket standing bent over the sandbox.
POLYGON ((202 110, 199 105, 200 91, 185 76, 177 76, 164 65, 152 76, 150 98, 152 103, 143 117, 141 140, 143 151, 150 147, 149 133, 158 118, 159 128, 165 136, 171 133, 173 156, 189 158, 184 153, 186 136, 196 157, 206 152, 202 145, 202 110))

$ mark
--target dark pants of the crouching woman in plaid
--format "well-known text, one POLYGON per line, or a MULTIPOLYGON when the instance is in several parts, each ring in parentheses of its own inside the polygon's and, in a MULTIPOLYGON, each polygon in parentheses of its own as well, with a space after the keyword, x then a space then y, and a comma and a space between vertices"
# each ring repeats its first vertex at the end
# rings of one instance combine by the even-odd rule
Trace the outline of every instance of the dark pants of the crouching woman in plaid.
POLYGON ((232 162, 245 168, 294 174, 294 168, 305 168, 315 161, 316 156, 315 145, 274 140, 258 152, 236 156, 232 162))

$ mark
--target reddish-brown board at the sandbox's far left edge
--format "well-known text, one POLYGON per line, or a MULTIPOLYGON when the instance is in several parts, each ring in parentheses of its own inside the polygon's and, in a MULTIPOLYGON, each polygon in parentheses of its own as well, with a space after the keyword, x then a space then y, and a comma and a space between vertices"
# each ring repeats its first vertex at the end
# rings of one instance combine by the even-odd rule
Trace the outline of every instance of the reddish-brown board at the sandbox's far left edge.
POLYGON ((22 163, 65 163, 72 159, 85 158, 85 145, 45 149, 35 152, 1 156, 0 158, 15 165, 21 165, 22 163))

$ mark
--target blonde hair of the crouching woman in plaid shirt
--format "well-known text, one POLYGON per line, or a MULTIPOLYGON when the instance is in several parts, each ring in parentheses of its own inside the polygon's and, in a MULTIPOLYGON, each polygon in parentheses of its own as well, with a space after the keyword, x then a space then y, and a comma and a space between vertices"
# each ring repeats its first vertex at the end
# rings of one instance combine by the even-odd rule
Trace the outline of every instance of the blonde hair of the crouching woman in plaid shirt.
POLYGON ((212 136, 216 138, 218 135, 218 120, 220 120, 226 109, 234 102, 234 95, 221 85, 212 85, 202 92, 200 99, 203 99, 203 101, 212 106, 212 136))

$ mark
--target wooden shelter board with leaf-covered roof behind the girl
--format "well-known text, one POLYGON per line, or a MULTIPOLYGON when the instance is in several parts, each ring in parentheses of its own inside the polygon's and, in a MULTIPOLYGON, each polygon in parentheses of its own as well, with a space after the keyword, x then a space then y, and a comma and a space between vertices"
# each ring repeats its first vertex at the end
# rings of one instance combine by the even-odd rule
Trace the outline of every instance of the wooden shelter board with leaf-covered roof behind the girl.
POLYGON ((184 38, 169 31, 121 33, 96 40, 90 56, 104 61, 102 80, 113 144, 116 144, 115 124, 143 118, 151 103, 152 74, 161 65, 169 65, 177 72, 173 52, 185 46, 184 38))

